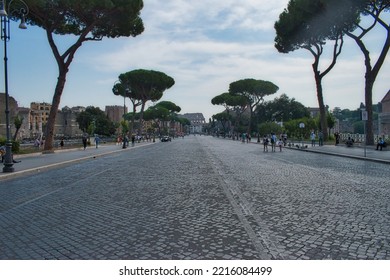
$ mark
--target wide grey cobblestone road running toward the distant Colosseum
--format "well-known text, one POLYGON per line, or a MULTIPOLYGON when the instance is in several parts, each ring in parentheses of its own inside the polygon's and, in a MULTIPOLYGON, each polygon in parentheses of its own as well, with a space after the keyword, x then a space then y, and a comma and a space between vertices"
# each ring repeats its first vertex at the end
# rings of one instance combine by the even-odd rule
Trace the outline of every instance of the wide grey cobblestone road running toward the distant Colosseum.
POLYGON ((389 166, 205 136, 0 183, 0 259, 390 259, 389 166))

